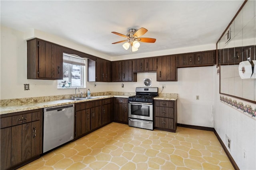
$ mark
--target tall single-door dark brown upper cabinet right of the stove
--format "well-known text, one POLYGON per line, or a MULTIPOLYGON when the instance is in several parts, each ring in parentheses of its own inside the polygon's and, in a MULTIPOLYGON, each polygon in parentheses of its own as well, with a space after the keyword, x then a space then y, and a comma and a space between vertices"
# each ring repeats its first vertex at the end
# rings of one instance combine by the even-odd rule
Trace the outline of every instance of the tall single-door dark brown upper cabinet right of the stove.
POLYGON ((177 81, 175 55, 157 57, 156 81, 177 81))

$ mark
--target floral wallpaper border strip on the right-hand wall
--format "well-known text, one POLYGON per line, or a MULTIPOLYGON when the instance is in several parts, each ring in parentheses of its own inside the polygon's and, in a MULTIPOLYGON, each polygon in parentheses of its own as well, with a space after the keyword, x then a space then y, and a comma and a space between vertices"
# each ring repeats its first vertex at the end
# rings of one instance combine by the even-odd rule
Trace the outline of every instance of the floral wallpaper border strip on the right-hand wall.
POLYGON ((227 104, 234 109, 248 115, 249 117, 256 120, 256 105, 248 102, 244 102, 243 100, 239 100, 236 98, 231 98, 228 96, 220 95, 220 102, 227 104))

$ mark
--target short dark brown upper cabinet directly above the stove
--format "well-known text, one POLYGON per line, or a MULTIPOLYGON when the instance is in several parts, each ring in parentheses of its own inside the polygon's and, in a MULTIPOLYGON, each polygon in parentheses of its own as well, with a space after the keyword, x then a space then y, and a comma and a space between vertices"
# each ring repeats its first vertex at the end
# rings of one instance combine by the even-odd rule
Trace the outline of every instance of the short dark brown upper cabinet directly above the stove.
POLYGON ((133 60, 133 72, 156 72, 156 57, 133 60))

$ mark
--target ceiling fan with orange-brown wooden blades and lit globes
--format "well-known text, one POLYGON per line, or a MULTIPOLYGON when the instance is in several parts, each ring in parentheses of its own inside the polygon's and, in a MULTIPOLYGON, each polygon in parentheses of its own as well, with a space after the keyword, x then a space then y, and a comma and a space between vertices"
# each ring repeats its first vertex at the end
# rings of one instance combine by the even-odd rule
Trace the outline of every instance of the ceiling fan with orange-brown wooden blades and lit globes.
POLYGON ((140 47, 139 41, 144 42, 144 43, 154 43, 154 42, 156 42, 156 39, 154 39, 154 38, 140 37, 140 36, 144 35, 147 31, 148 30, 146 28, 142 27, 138 30, 136 30, 134 28, 129 29, 129 32, 126 35, 121 34, 121 33, 117 33, 117 32, 112 32, 116 35, 120 35, 122 37, 127 38, 126 40, 118 41, 118 42, 115 42, 115 43, 112 43, 112 44, 126 42, 126 43, 123 44, 124 49, 128 50, 129 47, 131 46, 132 52, 138 51, 138 48, 140 47))

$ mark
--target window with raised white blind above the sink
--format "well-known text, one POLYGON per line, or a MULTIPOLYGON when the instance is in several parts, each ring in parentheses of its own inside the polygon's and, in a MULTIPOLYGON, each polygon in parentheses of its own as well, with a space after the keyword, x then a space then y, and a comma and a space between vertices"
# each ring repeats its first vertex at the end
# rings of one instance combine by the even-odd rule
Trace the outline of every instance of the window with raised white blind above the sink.
POLYGON ((58 80, 58 88, 84 88, 84 72, 84 58, 63 53, 63 80, 58 80))

